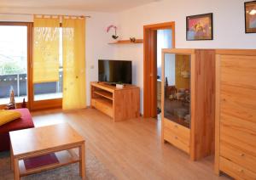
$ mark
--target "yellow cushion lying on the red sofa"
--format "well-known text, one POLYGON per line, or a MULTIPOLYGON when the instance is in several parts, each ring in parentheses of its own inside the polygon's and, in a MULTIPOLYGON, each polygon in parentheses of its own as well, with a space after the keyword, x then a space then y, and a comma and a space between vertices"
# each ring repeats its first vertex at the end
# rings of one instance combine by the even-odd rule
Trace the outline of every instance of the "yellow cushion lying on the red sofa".
POLYGON ((21 114, 16 110, 0 110, 0 127, 10 121, 20 119, 21 114))

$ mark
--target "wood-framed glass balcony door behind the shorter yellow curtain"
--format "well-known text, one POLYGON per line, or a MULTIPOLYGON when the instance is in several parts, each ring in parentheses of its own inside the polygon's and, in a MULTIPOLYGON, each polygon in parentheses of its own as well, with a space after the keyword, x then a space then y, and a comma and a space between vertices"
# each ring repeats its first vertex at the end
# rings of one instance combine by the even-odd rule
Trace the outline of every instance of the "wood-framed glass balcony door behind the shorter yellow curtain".
POLYGON ((9 104, 11 90, 15 92, 18 108, 24 98, 31 110, 61 107, 62 56, 58 59, 58 81, 34 82, 32 29, 33 23, 0 22, 0 109, 9 104))

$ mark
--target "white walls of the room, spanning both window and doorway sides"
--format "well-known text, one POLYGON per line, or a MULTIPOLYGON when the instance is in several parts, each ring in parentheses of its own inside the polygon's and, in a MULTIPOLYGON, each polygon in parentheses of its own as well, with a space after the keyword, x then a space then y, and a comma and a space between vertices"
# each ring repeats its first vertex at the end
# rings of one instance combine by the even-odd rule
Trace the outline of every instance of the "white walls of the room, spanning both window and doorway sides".
MULTIPOLYGON (((110 24, 118 25, 122 39, 143 38, 143 25, 176 22, 176 48, 256 48, 256 34, 244 33, 244 0, 161 0, 118 14, 57 9, 0 8, 0 12, 32 14, 89 14, 86 28, 87 103, 90 104, 89 83, 97 80, 97 59, 131 59, 133 84, 141 87, 143 112, 143 44, 108 45, 110 24), (186 16, 213 13, 213 41, 186 41, 186 16)), ((32 16, 3 15, 0 20, 32 21, 32 16)))

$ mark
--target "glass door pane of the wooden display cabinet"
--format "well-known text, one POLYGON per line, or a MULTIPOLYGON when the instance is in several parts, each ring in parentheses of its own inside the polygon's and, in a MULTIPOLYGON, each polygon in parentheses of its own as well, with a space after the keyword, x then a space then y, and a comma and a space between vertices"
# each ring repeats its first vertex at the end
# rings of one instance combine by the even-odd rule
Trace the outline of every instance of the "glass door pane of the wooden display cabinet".
POLYGON ((189 128, 191 56, 165 53, 164 60, 164 117, 189 128))

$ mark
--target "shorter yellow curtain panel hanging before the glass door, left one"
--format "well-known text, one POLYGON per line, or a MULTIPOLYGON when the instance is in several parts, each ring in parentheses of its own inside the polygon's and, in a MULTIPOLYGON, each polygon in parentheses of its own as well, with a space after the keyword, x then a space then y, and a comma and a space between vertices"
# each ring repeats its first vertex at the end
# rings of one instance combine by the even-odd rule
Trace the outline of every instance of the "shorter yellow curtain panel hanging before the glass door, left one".
POLYGON ((60 18, 34 17, 33 37, 33 82, 58 82, 60 18))

